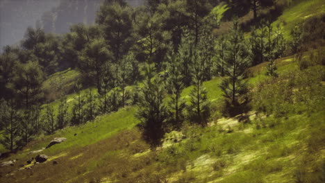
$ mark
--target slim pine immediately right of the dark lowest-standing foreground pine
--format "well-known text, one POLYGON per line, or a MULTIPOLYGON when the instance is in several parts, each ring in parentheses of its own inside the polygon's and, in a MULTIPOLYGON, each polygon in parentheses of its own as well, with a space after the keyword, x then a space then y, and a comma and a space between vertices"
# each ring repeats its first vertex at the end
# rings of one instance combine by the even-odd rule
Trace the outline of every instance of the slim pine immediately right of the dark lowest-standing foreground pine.
POLYGON ((174 128, 179 128, 184 121, 183 110, 185 109, 185 101, 181 98, 181 92, 184 89, 181 62, 175 53, 168 55, 167 58, 169 60, 167 87, 172 93, 168 102, 169 121, 174 128))

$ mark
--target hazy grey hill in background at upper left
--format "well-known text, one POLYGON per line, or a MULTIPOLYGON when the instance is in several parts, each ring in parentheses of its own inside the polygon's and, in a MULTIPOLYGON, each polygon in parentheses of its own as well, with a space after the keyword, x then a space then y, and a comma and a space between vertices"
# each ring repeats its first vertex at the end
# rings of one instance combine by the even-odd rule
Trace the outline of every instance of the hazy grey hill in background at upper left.
MULTIPOLYGON (((72 24, 93 24, 102 0, 0 0, 0 48, 17 44, 28 26, 67 33, 72 24)), ((143 0, 128 0, 140 6, 143 0)), ((1 52, 0 51, 0 52, 1 52)))

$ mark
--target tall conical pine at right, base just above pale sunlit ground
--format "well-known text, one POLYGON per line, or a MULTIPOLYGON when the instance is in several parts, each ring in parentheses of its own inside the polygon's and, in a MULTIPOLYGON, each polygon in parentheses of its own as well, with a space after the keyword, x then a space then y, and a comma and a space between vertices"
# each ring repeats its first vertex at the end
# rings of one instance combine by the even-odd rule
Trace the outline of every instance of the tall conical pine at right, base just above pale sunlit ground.
POLYGON ((228 50, 225 57, 225 73, 227 78, 219 85, 224 93, 226 101, 226 114, 234 115, 242 112, 247 93, 247 84, 244 81, 244 72, 248 67, 247 49, 244 43, 244 35, 239 28, 238 21, 233 22, 231 33, 228 37, 228 50))

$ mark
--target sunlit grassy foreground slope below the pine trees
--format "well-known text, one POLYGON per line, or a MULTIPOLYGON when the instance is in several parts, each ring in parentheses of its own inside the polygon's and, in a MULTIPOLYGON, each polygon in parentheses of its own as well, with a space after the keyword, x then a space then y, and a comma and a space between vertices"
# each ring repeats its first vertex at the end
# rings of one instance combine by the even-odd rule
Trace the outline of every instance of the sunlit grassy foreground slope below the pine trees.
MULTIPOLYGON (((279 82, 290 71, 303 73, 292 58, 278 60, 277 64, 279 82)), ((252 86, 266 79, 264 69, 265 64, 251 68, 252 86)), ((318 66, 308 69, 319 73, 318 78, 324 77, 324 70, 318 66)), ((221 97, 219 82, 219 78, 204 82, 210 101, 221 97)), ((324 85, 319 84, 315 84, 320 87, 319 92, 325 92, 324 85)), ((269 86, 273 85, 276 84, 269 86)), ((190 89, 184 89, 182 96, 186 97, 190 89)), ((1 168, 0 179, 1 182, 319 182, 325 160, 324 103, 314 111, 299 110, 300 105, 288 104, 292 112, 280 117, 250 112, 249 123, 232 118, 210 121, 207 128, 185 125, 181 132, 166 134, 163 146, 157 150, 150 150, 135 127, 139 123, 134 116, 135 107, 126 107, 85 125, 36 139, 9 158, 18 161, 13 167, 1 168), (29 152, 47 146, 53 137, 66 137, 67 141, 42 151, 49 155, 49 160, 33 166, 33 171, 17 171, 19 164, 35 157, 28 155, 29 152), (53 165, 53 161, 58 164, 53 165)))

